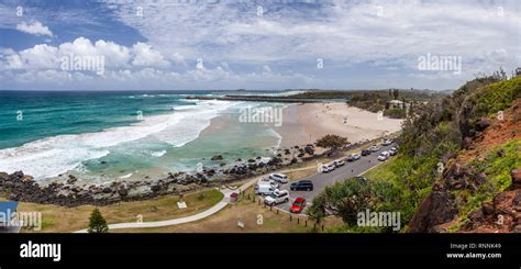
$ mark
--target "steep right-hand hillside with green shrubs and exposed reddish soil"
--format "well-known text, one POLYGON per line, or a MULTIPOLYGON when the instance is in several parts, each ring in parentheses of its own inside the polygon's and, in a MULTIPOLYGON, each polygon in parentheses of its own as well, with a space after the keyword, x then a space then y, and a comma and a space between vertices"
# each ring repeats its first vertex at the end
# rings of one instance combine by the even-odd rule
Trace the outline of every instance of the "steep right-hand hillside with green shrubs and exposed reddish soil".
POLYGON ((520 98, 521 77, 499 71, 468 81, 440 102, 414 105, 397 139, 398 156, 366 172, 367 183, 346 180, 326 188, 312 212, 342 216, 342 232, 361 232, 353 212, 342 211, 346 204, 354 211, 398 211, 408 224, 402 232, 454 231, 437 226, 454 220, 461 227, 469 212, 508 188, 510 171, 521 167, 520 98), (385 188, 376 193, 381 182, 385 188))

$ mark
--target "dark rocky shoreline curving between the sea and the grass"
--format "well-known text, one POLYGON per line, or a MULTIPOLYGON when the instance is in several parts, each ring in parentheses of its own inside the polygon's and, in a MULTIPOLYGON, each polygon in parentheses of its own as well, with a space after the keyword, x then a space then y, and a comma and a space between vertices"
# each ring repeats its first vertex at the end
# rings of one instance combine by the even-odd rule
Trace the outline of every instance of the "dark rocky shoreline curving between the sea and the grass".
MULTIPOLYGON (((352 149, 370 143, 369 141, 347 144, 343 149, 352 149)), ((168 173, 156 180, 138 181, 119 180, 101 184, 77 184, 78 179, 68 178, 54 181, 45 187, 40 186, 31 176, 23 171, 11 175, 0 172, 0 195, 11 201, 33 202, 40 204, 56 204, 62 206, 79 206, 84 204, 108 205, 123 201, 148 200, 167 194, 182 194, 202 188, 220 187, 241 181, 255 176, 278 170, 290 165, 323 157, 325 153, 317 154, 312 144, 275 149, 275 157, 269 159, 237 159, 232 164, 218 165, 222 156, 213 156, 218 168, 202 168, 197 173, 168 173)))

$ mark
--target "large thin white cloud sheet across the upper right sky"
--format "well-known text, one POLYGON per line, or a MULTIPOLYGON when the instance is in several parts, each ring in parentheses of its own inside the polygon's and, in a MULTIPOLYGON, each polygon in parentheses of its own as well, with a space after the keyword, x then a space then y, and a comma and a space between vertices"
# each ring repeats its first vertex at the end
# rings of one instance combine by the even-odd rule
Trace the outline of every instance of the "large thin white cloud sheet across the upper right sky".
MULTIPOLYGON (((492 52, 520 54, 514 38, 520 14, 513 0, 320 3, 297 7, 267 1, 262 3, 263 16, 256 15, 255 1, 158 2, 143 5, 145 18, 136 16, 133 5, 111 7, 159 52, 177 52, 192 59, 204 55, 204 63, 273 66, 313 63, 320 57, 344 66, 387 61, 403 70, 414 68, 419 55, 433 53, 462 56, 466 72, 458 80, 464 81, 479 65, 499 67, 479 61, 492 52), (498 12, 499 7, 503 12, 498 12)), ((514 68, 519 63, 508 57, 502 65, 514 68)))

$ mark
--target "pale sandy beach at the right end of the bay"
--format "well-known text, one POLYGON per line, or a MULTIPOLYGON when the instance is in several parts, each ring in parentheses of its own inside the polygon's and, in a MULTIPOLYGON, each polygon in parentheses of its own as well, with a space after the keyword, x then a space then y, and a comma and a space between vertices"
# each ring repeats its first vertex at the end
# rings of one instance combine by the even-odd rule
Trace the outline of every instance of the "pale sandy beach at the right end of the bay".
POLYGON ((397 132, 402 120, 381 117, 377 113, 348 107, 345 103, 306 103, 288 105, 276 132, 282 136, 281 146, 314 143, 326 134, 336 134, 351 143, 374 139, 397 132))

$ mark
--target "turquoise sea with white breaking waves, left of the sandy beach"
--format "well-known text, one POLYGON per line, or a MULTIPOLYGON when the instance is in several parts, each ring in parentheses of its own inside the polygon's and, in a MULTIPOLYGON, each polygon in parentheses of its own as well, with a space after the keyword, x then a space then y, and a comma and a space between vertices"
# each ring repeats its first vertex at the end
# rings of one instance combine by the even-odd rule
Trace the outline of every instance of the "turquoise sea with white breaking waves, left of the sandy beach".
POLYGON ((193 171, 223 155, 269 157, 278 135, 262 123, 240 123, 245 107, 278 104, 192 101, 211 92, 0 91, 0 171, 37 180, 74 173, 87 181, 154 178, 193 171), (214 119, 219 124, 209 127, 214 119))

